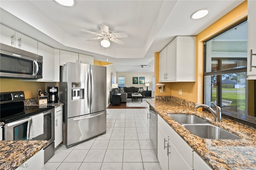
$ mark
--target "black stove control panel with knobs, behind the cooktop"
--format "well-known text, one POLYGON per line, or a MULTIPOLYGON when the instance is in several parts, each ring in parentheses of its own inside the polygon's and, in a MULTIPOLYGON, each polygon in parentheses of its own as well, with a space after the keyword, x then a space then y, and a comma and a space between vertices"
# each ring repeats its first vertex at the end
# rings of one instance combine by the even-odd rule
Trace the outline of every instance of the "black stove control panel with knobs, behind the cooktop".
POLYGON ((0 93, 0 103, 12 103, 16 101, 24 101, 25 95, 23 91, 14 91, 14 92, 6 92, 0 93))

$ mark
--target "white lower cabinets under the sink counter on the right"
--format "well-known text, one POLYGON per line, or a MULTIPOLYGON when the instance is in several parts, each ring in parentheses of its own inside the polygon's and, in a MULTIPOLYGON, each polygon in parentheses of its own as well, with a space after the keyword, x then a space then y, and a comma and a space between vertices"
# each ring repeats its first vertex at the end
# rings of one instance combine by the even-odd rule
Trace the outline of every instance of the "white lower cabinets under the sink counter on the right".
POLYGON ((162 170, 210 170, 210 166, 158 115, 157 152, 162 170))

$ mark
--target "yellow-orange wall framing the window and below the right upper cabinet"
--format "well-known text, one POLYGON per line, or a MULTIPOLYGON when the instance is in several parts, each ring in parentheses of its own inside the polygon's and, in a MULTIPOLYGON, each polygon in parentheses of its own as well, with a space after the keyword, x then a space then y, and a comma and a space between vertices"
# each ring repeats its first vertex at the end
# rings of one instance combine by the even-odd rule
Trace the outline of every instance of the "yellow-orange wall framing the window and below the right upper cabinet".
MULTIPOLYGON (((208 28, 196 35, 196 82, 175 82, 164 83, 166 85, 164 93, 160 93, 156 87, 155 95, 172 95, 181 99, 186 99, 195 103, 202 103, 203 99, 203 41, 218 34, 225 28, 239 22, 247 17, 247 1, 231 10, 228 14, 214 22, 208 28), (178 90, 182 89, 182 95, 178 90)), ((155 53, 155 79, 159 82, 159 53, 155 53), (156 66, 158 65, 158 67, 156 66), (158 69, 156 69, 158 68, 158 69)))

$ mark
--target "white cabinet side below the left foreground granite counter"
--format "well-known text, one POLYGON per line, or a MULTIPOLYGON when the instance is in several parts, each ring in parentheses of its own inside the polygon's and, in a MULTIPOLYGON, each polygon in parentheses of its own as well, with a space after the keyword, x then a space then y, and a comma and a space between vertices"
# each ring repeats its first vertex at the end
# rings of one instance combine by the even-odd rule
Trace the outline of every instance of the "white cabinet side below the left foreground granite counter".
POLYGON ((16 170, 44 170, 44 150, 39 150, 16 170))

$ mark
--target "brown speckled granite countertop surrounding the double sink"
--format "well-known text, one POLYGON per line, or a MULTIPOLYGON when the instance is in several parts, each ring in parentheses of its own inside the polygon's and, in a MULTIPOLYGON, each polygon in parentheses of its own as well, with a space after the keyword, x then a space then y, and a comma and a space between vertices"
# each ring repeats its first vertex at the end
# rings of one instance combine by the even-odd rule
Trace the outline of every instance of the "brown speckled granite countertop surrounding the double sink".
POLYGON ((197 111, 170 101, 147 101, 212 169, 256 169, 256 129, 222 118, 214 122, 211 113, 197 111), (167 113, 196 115, 242 139, 214 140, 200 138, 174 121, 167 113))

